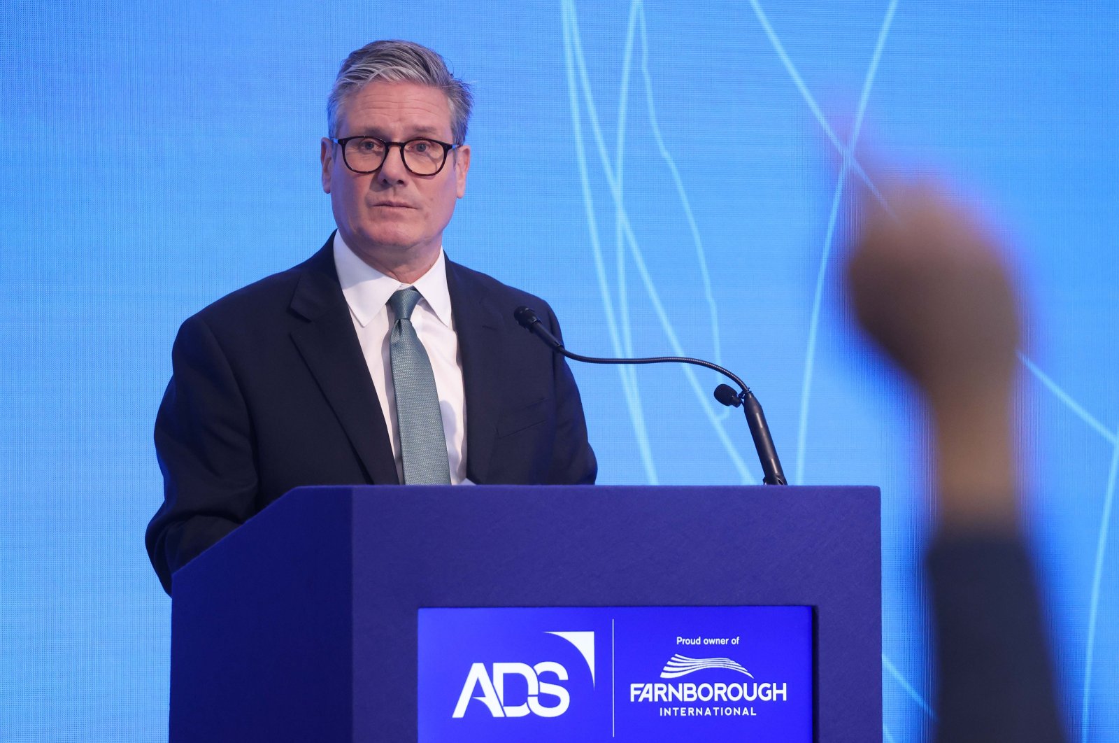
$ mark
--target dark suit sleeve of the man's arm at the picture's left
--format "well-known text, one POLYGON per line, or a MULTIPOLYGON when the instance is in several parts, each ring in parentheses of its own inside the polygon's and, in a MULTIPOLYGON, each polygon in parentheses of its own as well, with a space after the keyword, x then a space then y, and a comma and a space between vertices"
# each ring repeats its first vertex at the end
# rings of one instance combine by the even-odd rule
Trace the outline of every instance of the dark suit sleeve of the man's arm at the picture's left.
POLYGON ((172 376, 156 417, 163 505, 148 525, 148 556, 163 590, 171 574, 244 524, 257 490, 244 398, 214 332, 182 323, 172 376))

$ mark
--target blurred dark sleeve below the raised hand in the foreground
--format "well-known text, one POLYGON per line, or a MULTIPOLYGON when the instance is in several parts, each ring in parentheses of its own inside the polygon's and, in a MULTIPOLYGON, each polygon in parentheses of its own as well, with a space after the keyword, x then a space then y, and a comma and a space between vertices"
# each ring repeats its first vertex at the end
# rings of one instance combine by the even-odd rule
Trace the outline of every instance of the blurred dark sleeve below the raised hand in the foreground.
POLYGON ((1004 535, 941 536, 927 558, 939 743, 1064 741, 1029 556, 1004 535))

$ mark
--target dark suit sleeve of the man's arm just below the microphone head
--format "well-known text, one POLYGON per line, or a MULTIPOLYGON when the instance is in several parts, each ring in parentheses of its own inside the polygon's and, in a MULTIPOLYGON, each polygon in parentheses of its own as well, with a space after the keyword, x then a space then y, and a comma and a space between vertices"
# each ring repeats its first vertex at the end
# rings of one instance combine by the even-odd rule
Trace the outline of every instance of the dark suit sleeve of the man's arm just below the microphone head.
MULTIPOLYGON (((551 307, 546 307, 545 322, 558 339, 563 339, 560 321, 551 307)), ((599 474, 599 463, 586 435, 586 418, 583 402, 575 385, 575 377, 567 366, 567 359, 552 354, 553 378, 555 379, 556 436, 547 485, 594 485, 599 474)))

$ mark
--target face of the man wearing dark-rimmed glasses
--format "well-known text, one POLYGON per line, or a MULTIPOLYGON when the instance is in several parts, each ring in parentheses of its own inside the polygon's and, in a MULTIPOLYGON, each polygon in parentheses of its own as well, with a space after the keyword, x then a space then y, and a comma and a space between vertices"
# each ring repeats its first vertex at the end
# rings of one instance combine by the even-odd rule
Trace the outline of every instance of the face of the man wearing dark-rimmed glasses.
MULTIPOLYGON (((429 137, 452 142, 446 95, 416 83, 374 82, 342 101, 338 139, 356 135, 404 142, 429 137)), ((385 164, 372 173, 346 167, 341 147, 322 140, 322 190, 330 194, 335 222, 357 255, 385 270, 415 265, 426 270, 439 254, 454 201, 467 189, 470 148, 448 154, 434 176, 404 167, 401 149, 391 148, 385 164)))

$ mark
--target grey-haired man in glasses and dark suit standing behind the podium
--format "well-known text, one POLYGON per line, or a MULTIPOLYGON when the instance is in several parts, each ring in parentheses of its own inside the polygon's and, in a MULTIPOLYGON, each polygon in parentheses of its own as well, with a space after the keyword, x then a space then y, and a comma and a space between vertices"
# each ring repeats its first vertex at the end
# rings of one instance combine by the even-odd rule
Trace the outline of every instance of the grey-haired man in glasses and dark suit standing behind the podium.
POLYGON ((321 144, 338 231, 310 260, 181 327, 156 421, 171 574, 304 485, 592 483, 566 363, 513 318, 545 302, 446 260, 466 191, 468 87, 376 41, 342 63, 321 144), (411 298, 411 299, 410 299, 411 298))

